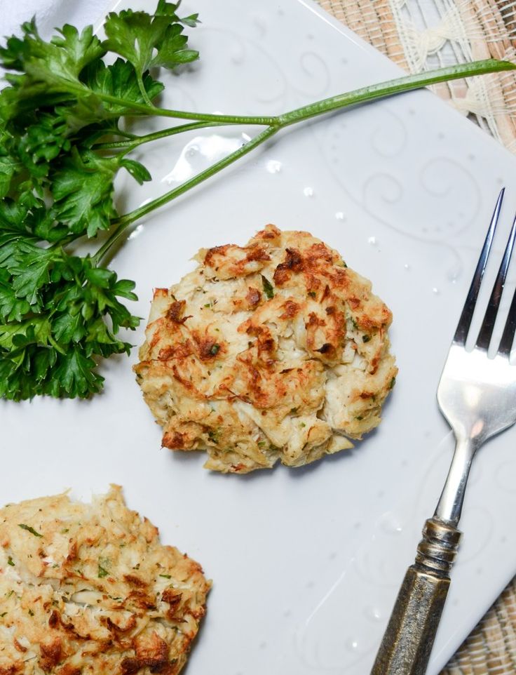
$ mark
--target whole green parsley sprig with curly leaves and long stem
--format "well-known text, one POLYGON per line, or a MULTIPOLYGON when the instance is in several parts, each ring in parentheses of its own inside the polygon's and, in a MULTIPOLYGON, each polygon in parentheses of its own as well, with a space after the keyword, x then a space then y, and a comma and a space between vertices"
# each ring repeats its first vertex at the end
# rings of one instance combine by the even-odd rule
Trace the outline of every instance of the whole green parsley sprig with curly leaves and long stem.
POLYGON ((130 352, 119 337, 139 319, 122 300, 136 300, 134 282, 105 266, 127 228, 281 130, 351 105, 433 83, 512 69, 477 61, 402 77, 327 98, 278 116, 203 114, 158 107, 163 84, 154 73, 198 58, 186 28, 196 14, 158 0, 154 14, 110 13, 105 39, 91 26, 64 25, 45 41, 34 20, 0 47, 8 86, 0 92, 0 397, 39 394, 87 397, 100 392, 100 358, 130 352), (151 70, 152 69, 152 70, 151 70), (151 74, 152 73, 152 74, 151 74), (171 118, 163 131, 127 130, 125 117, 171 118), (151 180, 129 155, 141 145, 209 126, 257 126, 253 138, 162 196, 119 214, 114 180, 127 171, 151 180), (79 255, 78 243, 95 243, 79 255), (102 243, 100 243, 102 241, 102 243))

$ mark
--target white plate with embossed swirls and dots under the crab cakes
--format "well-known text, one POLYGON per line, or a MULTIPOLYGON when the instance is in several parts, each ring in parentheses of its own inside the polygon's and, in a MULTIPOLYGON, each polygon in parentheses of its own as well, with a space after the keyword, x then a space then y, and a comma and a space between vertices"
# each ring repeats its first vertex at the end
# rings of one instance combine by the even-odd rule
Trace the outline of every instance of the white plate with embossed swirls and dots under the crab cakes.
MULTIPOLYGON (((165 79, 170 107, 282 112, 399 74, 304 1, 192 0, 184 10, 201 12, 191 31, 201 61, 165 79)), ((226 129, 149 146, 142 157, 154 183, 125 183, 121 208, 240 141, 240 131, 226 129)), ((291 128, 147 218, 114 261, 121 277, 137 281, 134 309, 144 317, 152 288, 177 281, 200 246, 244 243, 266 222, 308 229, 339 249, 395 316, 400 376, 381 427, 356 450, 306 469, 210 474, 200 453, 159 449, 160 429, 130 369, 135 350, 102 366, 106 391, 90 402, 1 405, 2 500, 67 486, 87 497, 121 483, 163 542, 201 561, 214 580, 192 675, 369 672, 447 472, 452 439, 435 388, 502 184, 504 232, 516 208, 515 170, 494 140, 419 92, 291 128)), ((515 438, 510 429, 475 460, 429 675, 515 573, 515 438)))

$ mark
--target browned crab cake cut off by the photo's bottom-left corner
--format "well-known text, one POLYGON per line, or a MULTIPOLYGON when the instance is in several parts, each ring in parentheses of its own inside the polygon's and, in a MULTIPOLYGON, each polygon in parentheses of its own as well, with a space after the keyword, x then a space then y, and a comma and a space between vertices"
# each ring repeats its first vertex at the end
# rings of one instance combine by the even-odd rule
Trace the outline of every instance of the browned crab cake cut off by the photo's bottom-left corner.
POLYGON ((176 675, 205 613, 198 563, 121 488, 0 509, 1 675, 176 675))

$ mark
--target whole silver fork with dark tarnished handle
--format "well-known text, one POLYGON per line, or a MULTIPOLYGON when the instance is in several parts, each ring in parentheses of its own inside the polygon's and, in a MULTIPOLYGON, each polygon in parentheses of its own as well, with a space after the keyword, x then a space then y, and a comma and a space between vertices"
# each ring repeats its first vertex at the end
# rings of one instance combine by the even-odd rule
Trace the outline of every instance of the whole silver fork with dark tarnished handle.
POLYGON ((475 347, 466 349, 482 277, 503 201, 501 190, 480 259, 437 387, 437 402, 456 446, 435 514, 423 528, 414 564, 400 587, 371 675, 424 675, 449 589, 461 533, 457 529, 471 462, 478 448, 516 421, 516 292, 494 357, 488 355, 515 242, 516 218, 475 347))

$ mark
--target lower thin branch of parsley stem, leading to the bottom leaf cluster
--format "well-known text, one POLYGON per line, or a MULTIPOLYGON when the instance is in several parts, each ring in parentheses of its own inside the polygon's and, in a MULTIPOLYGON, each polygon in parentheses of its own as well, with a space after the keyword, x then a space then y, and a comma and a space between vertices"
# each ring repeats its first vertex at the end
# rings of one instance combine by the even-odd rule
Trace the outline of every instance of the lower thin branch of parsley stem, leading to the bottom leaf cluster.
POLYGON ((240 159, 240 157, 243 157, 248 152, 251 152, 251 150, 255 147, 262 145, 263 142, 265 142, 268 138, 271 138, 271 136, 273 136, 277 131, 279 131, 278 127, 268 126, 266 129, 264 129, 264 131, 261 131, 250 141, 247 141, 247 143, 239 147, 238 150, 231 152, 231 154, 215 162, 215 164, 212 164, 212 166, 208 166, 208 168, 206 168, 204 171, 197 173, 189 180, 186 180, 181 185, 178 185, 177 187, 169 190, 169 192, 165 192, 165 194, 157 197, 156 199, 149 201, 149 203, 144 204, 139 208, 135 208, 135 210, 130 211, 130 213, 122 215, 121 218, 114 220, 113 225, 116 225, 114 232, 112 232, 111 236, 109 236, 109 239, 104 241, 99 250, 97 250, 97 253, 93 255, 93 265, 100 264, 102 258, 104 258, 104 256, 107 254, 111 246, 114 246, 116 241, 121 238, 125 229, 127 229, 132 222, 139 220, 144 215, 147 215, 147 213, 151 213, 151 211, 154 211, 154 209, 163 206, 169 201, 172 201, 172 199, 175 199, 179 195, 184 194, 184 192, 188 192, 193 187, 196 187, 196 185, 199 185, 199 183, 203 182, 204 180, 211 178, 212 175, 219 173, 219 171, 222 171, 222 169, 226 168, 226 166, 229 166, 233 162, 237 161, 237 159, 240 159))

